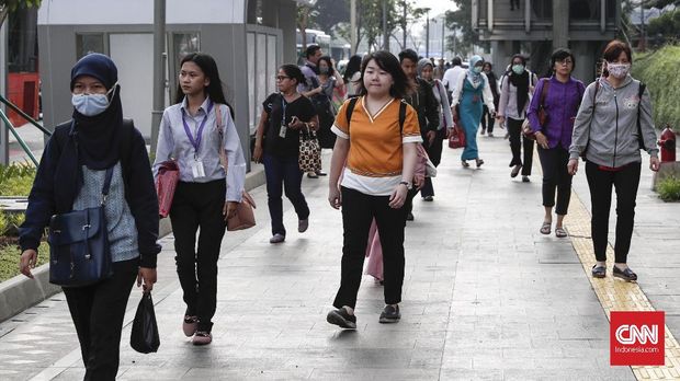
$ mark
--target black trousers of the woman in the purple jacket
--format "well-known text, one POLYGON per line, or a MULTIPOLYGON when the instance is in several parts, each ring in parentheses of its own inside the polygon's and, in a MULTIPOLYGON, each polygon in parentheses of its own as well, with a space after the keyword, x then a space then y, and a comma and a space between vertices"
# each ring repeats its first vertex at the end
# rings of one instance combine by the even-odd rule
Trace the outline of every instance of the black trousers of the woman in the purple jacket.
POLYGON ((539 147, 539 159, 543 169, 543 206, 555 206, 557 190, 555 212, 566 216, 571 198, 571 175, 567 171, 569 151, 559 146, 547 150, 539 147))

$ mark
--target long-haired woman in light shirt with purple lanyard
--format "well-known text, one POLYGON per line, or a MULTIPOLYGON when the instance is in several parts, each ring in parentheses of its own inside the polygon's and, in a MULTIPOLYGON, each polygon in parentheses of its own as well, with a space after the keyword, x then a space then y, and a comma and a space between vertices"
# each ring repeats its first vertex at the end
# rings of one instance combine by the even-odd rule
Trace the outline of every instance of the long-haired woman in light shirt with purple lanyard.
POLYGON ((160 124, 155 175, 170 159, 180 168, 170 221, 186 303, 182 327, 188 337, 193 336, 194 345, 206 345, 213 339, 219 246, 246 182, 246 160, 231 107, 217 65, 207 54, 192 53, 180 62, 175 104, 166 108, 160 124), (217 113, 224 127, 217 126, 217 113), (220 150, 226 152, 227 169, 220 165, 220 150))

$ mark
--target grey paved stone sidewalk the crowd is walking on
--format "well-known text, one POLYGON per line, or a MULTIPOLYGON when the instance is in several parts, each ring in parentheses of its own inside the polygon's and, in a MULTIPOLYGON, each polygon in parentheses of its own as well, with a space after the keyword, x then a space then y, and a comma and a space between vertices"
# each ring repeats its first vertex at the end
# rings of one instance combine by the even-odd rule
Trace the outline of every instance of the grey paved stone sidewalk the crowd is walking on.
MULTIPOLYGON (((358 331, 326 323, 340 280, 341 218, 326 200, 327 178, 305 177, 306 233, 295 231, 296 216, 284 201, 291 233, 284 244, 269 244, 267 194, 259 187, 252 192, 259 224, 226 234, 211 346, 194 347, 181 332, 172 238, 163 239, 154 292, 160 351, 140 355, 128 345, 134 292, 118 379, 634 380, 631 368, 609 366, 609 322, 570 240, 539 233, 537 155, 525 184, 509 177, 507 140, 478 141, 480 170, 462 169, 461 150, 445 148, 434 203, 415 201, 400 323, 378 324, 383 289, 369 276, 358 331)), ((575 189, 589 205, 580 174, 575 189)), ((646 186, 643 180, 641 190, 646 186)), ((680 261, 673 255, 680 205, 645 192, 638 201, 631 265, 655 307, 675 314, 668 325, 677 334, 680 286, 671 276, 680 261), (658 240, 666 231, 660 212, 675 219, 670 240, 658 240)), ((82 374, 63 295, 0 323, 0 379, 82 374)))

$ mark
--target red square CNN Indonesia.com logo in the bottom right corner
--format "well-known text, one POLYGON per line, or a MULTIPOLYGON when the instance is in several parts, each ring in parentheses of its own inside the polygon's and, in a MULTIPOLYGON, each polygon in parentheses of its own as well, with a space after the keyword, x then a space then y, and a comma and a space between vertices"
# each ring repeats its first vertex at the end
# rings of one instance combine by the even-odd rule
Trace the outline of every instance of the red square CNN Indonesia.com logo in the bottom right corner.
POLYGON ((662 366, 665 319, 664 311, 612 311, 610 365, 662 366))

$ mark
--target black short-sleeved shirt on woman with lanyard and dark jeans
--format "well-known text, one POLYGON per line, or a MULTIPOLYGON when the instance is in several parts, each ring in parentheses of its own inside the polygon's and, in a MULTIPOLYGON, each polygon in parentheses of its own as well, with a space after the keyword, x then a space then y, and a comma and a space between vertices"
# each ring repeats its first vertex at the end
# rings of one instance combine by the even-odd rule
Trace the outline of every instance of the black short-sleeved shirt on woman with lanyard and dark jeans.
POLYGON ((280 93, 272 93, 262 103, 269 114, 267 132, 264 134, 264 153, 276 157, 295 157, 299 153, 299 130, 286 128, 285 138, 280 136, 281 119, 285 108, 285 125, 287 126, 293 115, 302 122, 309 122, 316 115, 311 101, 304 95, 287 103, 280 93))

